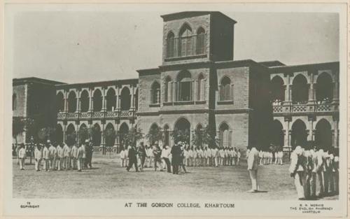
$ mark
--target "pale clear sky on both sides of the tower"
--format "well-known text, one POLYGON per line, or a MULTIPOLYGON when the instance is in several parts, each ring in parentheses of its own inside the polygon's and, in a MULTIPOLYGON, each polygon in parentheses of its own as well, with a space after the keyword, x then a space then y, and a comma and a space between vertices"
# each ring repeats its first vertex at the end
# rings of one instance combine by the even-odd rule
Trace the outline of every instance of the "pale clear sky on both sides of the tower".
MULTIPOLYGON (((137 78, 137 69, 162 64, 160 15, 178 11, 63 8, 15 13, 9 24, 10 73, 13 78, 66 83, 137 78)), ((221 12, 237 21, 234 60, 287 65, 339 61, 337 13, 221 12)))

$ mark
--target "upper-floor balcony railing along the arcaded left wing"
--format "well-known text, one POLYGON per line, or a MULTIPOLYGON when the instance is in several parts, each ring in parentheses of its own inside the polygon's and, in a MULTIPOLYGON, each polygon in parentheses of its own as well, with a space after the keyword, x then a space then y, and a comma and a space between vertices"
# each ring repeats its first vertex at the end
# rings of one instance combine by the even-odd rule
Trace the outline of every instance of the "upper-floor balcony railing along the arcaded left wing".
POLYGON ((58 112, 57 120, 90 120, 90 119, 117 119, 117 118, 136 118, 136 113, 130 111, 97 111, 97 112, 58 112))

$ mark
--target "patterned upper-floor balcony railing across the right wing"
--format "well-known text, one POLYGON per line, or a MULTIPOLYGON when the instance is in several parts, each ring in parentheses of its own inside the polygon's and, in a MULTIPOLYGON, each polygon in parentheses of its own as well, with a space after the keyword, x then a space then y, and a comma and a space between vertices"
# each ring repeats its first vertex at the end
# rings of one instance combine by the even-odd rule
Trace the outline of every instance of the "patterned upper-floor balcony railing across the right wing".
POLYGON ((317 113, 339 111, 339 104, 281 104, 272 106, 274 113, 317 113))

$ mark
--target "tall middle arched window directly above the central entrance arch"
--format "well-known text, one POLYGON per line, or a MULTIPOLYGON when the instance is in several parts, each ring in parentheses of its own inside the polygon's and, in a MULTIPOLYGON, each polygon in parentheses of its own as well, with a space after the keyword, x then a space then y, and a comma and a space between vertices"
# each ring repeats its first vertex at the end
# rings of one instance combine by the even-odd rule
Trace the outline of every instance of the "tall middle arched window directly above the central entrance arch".
POLYGON ((192 78, 188 71, 181 71, 176 78, 177 80, 177 100, 191 101, 192 100, 192 78))

